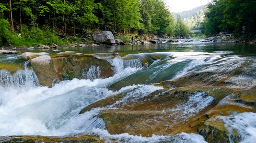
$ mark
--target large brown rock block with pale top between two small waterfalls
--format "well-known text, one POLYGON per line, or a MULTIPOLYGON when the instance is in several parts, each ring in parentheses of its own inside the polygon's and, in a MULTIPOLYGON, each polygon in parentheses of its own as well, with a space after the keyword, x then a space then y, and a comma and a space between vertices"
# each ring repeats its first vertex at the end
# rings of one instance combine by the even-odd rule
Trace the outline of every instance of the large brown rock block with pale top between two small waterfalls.
POLYGON ((87 74, 90 68, 96 78, 108 78, 114 74, 112 65, 92 55, 44 56, 31 60, 31 65, 41 85, 51 87, 54 82, 63 80, 91 79, 87 74), (98 67, 98 68, 97 68, 98 67), (98 69, 98 70, 97 70, 98 69), (94 71, 93 71, 94 70, 94 71))

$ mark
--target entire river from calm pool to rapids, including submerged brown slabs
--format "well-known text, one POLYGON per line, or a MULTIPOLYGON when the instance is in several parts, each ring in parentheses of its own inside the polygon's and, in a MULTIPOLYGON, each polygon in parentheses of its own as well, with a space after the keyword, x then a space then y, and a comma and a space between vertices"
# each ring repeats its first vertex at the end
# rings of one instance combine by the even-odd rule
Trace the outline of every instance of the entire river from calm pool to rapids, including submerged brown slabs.
POLYGON ((210 135, 202 130, 217 131, 209 126, 223 132, 225 142, 256 141, 256 45, 184 42, 58 50, 98 56, 115 73, 101 78, 95 65, 84 73, 86 79, 47 87, 21 54, 0 55, 5 67, 0 70, 1 141, 13 135, 79 134, 106 142, 204 143, 210 135), (10 64, 19 68, 6 68, 10 64), (121 97, 115 102, 81 113, 116 95, 121 97))

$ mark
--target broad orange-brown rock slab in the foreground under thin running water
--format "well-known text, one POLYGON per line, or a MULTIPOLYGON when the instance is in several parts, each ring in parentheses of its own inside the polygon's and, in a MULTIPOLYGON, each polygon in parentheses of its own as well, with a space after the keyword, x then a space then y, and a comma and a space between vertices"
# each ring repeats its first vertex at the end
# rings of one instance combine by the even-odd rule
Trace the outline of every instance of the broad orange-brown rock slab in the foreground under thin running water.
POLYGON ((98 115, 104 120, 106 130, 111 134, 129 133, 149 137, 152 134, 197 133, 196 128, 189 124, 194 122, 197 124, 197 115, 205 115, 209 108, 214 107, 222 99, 222 96, 229 95, 231 91, 212 87, 163 89, 139 99, 127 99, 125 103, 119 102, 126 96, 126 93, 121 93, 94 102, 82 109, 80 113, 108 105, 114 107, 109 110, 105 108, 98 115), (226 92, 224 92, 225 90, 226 92), (207 108, 194 112, 193 116, 189 116, 189 114, 187 117, 184 116, 184 113, 187 113, 186 109, 177 107, 186 103, 191 95, 199 92, 205 92, 204 98, 212 96, 216 101, 210 103, 207 108), (219 95, 219 93, 222 94, 219 95))

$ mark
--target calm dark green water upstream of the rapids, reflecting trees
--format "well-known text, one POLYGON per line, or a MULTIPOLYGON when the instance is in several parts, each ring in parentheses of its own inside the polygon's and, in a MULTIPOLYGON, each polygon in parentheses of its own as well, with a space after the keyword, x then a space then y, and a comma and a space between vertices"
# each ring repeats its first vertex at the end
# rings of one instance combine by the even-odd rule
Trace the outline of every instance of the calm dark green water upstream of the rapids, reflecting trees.
MULTIPOLYGON (((52 49, 50 49, 52 50, 52 49)), ((142 53, 142 52, 159 52, 159 51, 200 51, 200 52, 215 52, 215 51, 233 51, 233 54, 253 56, 256 55, 255 44, 240 44, 240 43, 160 43, 147 45, 114 45, 114 46, 87 46, 87 47, 59 47, 61 51, 77 51, 81 53, 106 53, 116 52, 120 55, 142 53)), ((23 50, 27 51, 27 50, 23 50)), ((40 51, 40 50, 39 50, 40 51)), ((36 51, 32 51, 36 52, 36 51)))

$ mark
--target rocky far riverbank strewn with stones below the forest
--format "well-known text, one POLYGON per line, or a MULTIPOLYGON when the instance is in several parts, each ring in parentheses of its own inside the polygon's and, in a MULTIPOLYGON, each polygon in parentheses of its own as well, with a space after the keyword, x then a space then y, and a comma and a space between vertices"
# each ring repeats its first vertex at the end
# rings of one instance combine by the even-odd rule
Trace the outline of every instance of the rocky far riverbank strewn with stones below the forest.
POLYGON ((45 44, 33 43, 32 46, 4 46, 0 47, 0 54, 15 53, 19 50, 56 50, 58 47, 61 48, 75 48, 75 47, 89 47, 89 46, 107 46, 107 45, 144 45, 144 44, 156 44, 156 43, 187 43, 187 42, 226 42, 226 43, 245 43, 245 44, 256 44, 256 39, 238 39, 234 38, 232 34, 219 33, 214 37, 208 37, 205 39, 171 39, 171 38, 159 38, 153 34, 116 34, 113 35, 114 43, 108 44, 104 42, 93 41, 93 33, 87 34, 83 37, 68 37, 61 34, 56 34, 60 41, 68 41, 64 45, 57 45, 52 42, 47 42, 45 44), (77 41, 70 41, 75 40, 77 41), (79 39, 79 40, 78 40, 79 39))

